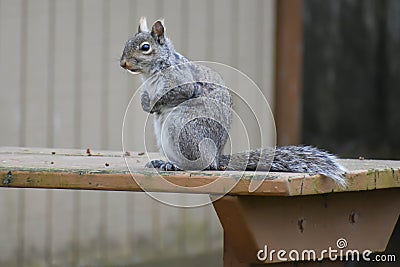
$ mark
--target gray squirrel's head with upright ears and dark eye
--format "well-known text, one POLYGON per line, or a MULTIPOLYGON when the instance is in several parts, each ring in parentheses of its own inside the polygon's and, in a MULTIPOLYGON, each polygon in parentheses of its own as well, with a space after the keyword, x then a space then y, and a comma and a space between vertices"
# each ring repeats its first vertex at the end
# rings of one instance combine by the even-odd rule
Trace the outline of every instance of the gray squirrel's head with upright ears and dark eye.
POLYGON ((141 17, 138 32, 125 44, 120 60, 121 67, 134 74, 149 74, 154 66, 160 65, 168 57, 170 42, 164 32, 163 20, 154 22, 150 31, 146 18, 141 17))

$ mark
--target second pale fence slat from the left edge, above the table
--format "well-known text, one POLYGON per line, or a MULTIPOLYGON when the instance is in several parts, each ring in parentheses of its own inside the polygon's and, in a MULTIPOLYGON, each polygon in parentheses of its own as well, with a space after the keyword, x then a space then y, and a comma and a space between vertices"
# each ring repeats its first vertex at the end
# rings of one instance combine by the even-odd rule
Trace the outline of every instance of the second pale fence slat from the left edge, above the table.
POLYGON ((49 10, 48 1, 39 0, 24 2, 26 23, 23 50, 21 55, 21 108, 23 110, 23 146, 47 145, 47 105, 48 94, 46 86, 47 63, 49 56, 48 26, 49 10), (25 44, 24 44, 25 42, 25 44), (37 103, 43 102, 43 105, 37 103))

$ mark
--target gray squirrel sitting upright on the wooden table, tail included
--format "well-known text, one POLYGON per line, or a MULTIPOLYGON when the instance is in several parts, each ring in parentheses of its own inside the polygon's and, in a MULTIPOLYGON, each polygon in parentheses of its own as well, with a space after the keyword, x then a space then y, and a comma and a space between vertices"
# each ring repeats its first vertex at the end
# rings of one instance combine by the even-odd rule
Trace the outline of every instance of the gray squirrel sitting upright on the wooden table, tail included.
POLYGON ((154 115, 157 144, 167 161, 146 167, 171 170, 246 170, 322 174, 346 185, 336 157, 311 146, 283 146, 223 155, 229 138, 232 99, 221 76, 175 51, 163 20, 148 29, 146 18, 125 45, 122 68, 141 74, 141 105, 154 115))

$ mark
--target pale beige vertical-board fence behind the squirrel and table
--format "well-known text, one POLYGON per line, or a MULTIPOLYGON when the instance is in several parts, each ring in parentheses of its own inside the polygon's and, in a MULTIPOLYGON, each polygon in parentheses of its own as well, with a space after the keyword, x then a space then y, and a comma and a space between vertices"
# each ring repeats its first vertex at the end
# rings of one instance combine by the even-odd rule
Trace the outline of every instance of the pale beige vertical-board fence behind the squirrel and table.
MULTIPOLYGON (((119 57, 142 15, 164 17, 183 54, 236 67, 273 98, 273 0, 0 0, 0 145, 120 150, 140 79, 119 57)), ((146 114, 136 109, 129 146, 143 150, 146 114)), ((222 262, 209 206, 177 209, 142 193, 0 191, 0 266, 124 266, 201 253, 222 262)))

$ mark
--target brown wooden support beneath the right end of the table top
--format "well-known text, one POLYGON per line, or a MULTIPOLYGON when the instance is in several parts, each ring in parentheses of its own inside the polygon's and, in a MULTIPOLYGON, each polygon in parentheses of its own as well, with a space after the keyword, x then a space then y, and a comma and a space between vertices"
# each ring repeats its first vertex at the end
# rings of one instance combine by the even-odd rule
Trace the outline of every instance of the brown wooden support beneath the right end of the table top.
POLYGON ((346 255, 357 250, 360 257, 365 250, 384 251, 399 218, 399 203, 397 188, 297 197, 224 196, 213 202, 224 228, 225 267, 293 266, 297 260, 291 261, 290 251, 299 253, 296 266, 343 266, 344 261, 330 261, 323 250, 336 250, 332 255, 338 257, 340 251, 346 255), (257 253, 265 246, 268 257, 260 261, 257 253), (279 260, 279 250, 285 250, 281 256, 289 262, 279 260), (306 260, 313 256, 309 250, 325 260, 302 261, 303 252, 306 260))

